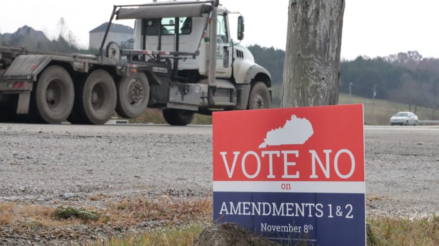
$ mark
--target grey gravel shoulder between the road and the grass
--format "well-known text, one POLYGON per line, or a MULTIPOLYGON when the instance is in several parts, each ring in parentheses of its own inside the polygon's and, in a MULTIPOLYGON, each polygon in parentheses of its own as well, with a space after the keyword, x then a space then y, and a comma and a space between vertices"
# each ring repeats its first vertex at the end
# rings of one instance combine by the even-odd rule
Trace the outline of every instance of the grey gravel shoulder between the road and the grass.
MULTIPOLYGON (((210 197, 211 131, 207 126, 0 124, 0 203, 104 208, 106 199, 89 198, 210 197)), ((439 213, 438 127, 366 127, 365 151, 369 215, 439 213)), ((67 229, 88 235, 112 230, 90 233, 81 227, 67 229)), ((8 227, 0 227, 0 243, 2 238, 12 245, 44 245, 35 233, 19 237, 8 227)), ((51 244, 68 242, 66 237, 51 244)))

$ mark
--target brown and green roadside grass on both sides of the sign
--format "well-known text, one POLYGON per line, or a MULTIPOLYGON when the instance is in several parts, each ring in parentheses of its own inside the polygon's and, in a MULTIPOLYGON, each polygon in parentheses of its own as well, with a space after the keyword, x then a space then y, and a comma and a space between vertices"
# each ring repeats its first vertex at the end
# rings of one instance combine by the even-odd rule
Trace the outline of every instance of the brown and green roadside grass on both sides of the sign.
MULTIPOLYGON (((212 224, 212 200, 131 198, 109 203, 102 210, 46 208, 0 203, 0 226, 28 233, 40 229, 89 225, 136 227, 143 221, 163 221, 139 234, 120 233, 89 242, 88 246, 190 246, 203 228, 212 224), (82 213, 81 211, 84 211, 82 213)), ((404 218, 369 216, 368 246, 438 246, 439 216, 404 218)), ((83 236, 78 234, 79 237, 83 236)))

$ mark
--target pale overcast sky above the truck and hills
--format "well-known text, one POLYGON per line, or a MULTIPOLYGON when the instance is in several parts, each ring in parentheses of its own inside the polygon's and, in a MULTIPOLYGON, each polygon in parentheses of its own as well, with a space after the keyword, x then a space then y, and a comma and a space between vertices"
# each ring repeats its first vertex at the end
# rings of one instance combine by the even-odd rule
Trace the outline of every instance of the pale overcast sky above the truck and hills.
MULTIPOLYGON (((86 48, 88 32, 108 21, 113 4, 146 2, 152 0, 1 0, 0 33, 13 33, 29 25, 54 38, 63 17, 86 48)), ((244 45, 258 43, 285 50, 288 0, 220 2, 245 17, 244 45)), ((423 57, 439 57, 438 9, 439 0, 346 0, 341 57, 386 56, 408 50, 418 50, 423 57)), ((231 18, 235 27, 237 16, 231 18)), ((134 21, 117 23, 134 26, 134 21)))

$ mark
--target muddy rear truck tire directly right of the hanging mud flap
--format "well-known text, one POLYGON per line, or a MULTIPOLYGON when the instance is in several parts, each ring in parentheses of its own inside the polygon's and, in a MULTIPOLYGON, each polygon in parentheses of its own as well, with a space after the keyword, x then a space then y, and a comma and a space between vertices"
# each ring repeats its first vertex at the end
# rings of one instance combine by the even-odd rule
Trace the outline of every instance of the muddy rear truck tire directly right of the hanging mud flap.
POLYGON ((50 66, 34 83, 28 118, 35 123, 59 124, 69 116, 74 100, 70 74, 61 66, 50 66))

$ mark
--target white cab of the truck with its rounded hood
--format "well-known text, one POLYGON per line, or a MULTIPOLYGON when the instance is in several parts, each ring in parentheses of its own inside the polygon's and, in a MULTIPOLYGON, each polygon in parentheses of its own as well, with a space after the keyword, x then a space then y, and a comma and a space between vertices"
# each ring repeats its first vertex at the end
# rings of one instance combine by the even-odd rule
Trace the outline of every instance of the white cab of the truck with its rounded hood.
MULTIPOLYGON (((201 3, 202 4, 202 3, 201 3)), ((150 4, 148 7, 154 6, 150 4)), ((157 6, 159 7, 159 6, 157 6)), ((196 6, 186 6, 195 8, 196 6)), ((140 7, 139 9, 141 9, 140 7)), ((146 8, 146 7, 145 7, 146 8)), ((135 50, 160 50, 179 52, 199 52, 199 55, 188 59, 172 60, 177 62, 180 82, 205 84, 209 76, 209 51, 211 48, 210 25, 211 16, 208 11, 201 15, 184 15, 190 11, 181 11, 181 5, 167 5, 167 11, 160 14, 158 9, 154 18, 136 19, 135 50), (177 12, 183 17, 174 17, 177 12), (178 36, 178 38, 177 38, 178 36), (176 42, 179 42, 176 45, 176 42)), ((225 7, 218 6, 216 25, 216 66, 215 82, 208 85, 215 88, 215 96, 210 96, 206 105, 198 107, 199 113, 210 114, 212 111, 233 109, 269 108, 271 103, 271 77, 269 72, 255 63, 251 52, 239 44, 243 38, 244 19, 233 15, 225 7), (238 40, 230 33, 229 17, 238 17, 238 40), (240 40, 239 40, 240 39, 240 40), (257 85, 258 84, 258 85, 257 85), (253 95, 250 95, 256 86, 253 95), (217 97, 217 98, 214 98, 217 97), (227 97, 227 98, 221 98, 227 97), (236 97, 236 98, 235 98, 236 97)), ((152 16, 152 15, 150 15, 152 16)), ((156 57, 144 57, 144 61, 152 61, 156 57)), ((209 90, 213 95, 214 91, 209 90)))

